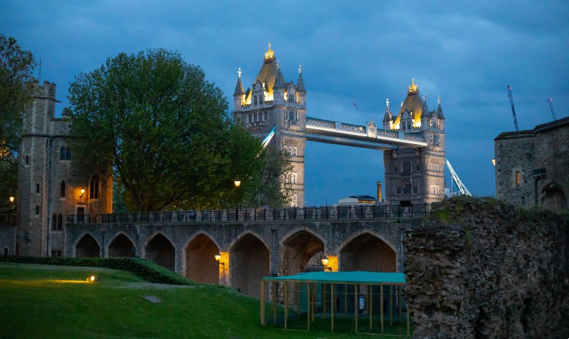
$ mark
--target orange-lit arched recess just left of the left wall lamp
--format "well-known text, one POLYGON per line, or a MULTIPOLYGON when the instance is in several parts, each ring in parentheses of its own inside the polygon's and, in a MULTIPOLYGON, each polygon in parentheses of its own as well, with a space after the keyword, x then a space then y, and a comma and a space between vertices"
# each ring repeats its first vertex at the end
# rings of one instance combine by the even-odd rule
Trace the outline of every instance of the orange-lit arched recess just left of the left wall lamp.
POLYGON ((209 236, 203 233, 195 236, 184 251, 186 277, 195 282, 219 284, 219 263, 215 259, 219 247, 209 236))

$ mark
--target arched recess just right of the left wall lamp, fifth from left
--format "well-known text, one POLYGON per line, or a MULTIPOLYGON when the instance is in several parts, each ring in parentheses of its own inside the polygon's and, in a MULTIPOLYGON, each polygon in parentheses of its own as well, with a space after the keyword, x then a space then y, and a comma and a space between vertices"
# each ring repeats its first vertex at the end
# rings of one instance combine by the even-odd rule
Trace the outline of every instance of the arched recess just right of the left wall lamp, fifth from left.
POLYGON ((249 296, 260 296, 260 281, 269 275, 269 249, 257 236, 247 233, 230 248, 231 287, 249 296))

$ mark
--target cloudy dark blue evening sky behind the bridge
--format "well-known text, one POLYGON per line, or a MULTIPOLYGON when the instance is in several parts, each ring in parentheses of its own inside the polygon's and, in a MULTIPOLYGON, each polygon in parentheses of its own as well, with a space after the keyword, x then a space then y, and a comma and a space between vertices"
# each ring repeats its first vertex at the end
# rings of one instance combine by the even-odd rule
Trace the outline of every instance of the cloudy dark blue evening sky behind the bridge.
MULTIPOLYGON (((466 188, 493 196, 494 138, 515 131, 508 85, 520 130, 553 120, 548 98, 569 115, 569 2, 429 2, 4 0, 0 33, 41 58, 56 115, 75 76, 147 48, 179 51, 232 105, 237 69, 251 86, 270 42, 287 81, 302 64, 307 115, 355 124, 380 123, 387 98, 397 112, 414 78, 431 110, 441 97, 466 188)), ((383 152, 307 142, 305 175, 307 205, 376 196, 383 152)))

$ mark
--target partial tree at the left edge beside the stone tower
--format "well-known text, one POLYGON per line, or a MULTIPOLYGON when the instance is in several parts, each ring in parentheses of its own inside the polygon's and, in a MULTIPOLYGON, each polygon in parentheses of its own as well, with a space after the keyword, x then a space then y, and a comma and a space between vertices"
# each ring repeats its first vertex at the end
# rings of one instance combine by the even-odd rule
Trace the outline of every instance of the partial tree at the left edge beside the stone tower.
POLYGON ((22 114, 31 103, 36 62, 15 38, 0 34, 0 211, 14 210, 8 201, 17 191, 17 156, 22 114))

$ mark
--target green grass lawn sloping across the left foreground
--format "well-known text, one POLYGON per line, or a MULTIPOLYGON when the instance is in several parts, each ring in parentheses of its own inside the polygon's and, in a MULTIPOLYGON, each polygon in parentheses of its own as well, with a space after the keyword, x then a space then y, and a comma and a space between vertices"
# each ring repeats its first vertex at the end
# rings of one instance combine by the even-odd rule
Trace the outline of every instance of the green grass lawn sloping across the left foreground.
POLYGON ((260 326, 258 299, 228 289, 149 284, 108 268, 0 263, 3 339, 355 337, 260 326), (88 283, 89 275, 102 280, 88 283))

